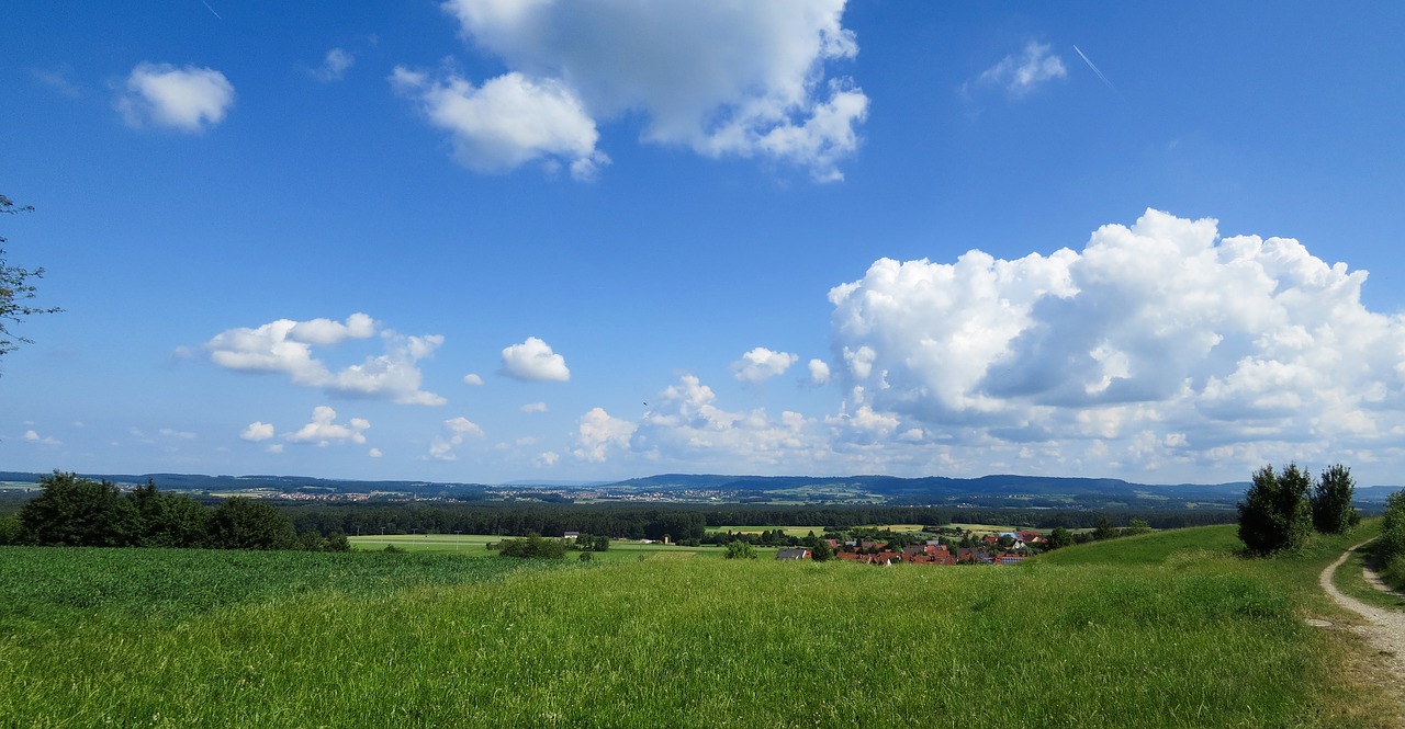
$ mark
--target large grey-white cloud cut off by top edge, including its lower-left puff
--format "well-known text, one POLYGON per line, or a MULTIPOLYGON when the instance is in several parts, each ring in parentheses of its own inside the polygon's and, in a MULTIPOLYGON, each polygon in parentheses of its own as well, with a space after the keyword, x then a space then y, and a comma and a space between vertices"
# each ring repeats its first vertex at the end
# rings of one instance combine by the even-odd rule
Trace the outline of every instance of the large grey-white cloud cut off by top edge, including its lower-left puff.
POLYGON ((590 178, 608 163, 597 125, 642 121, 645 142, 762 157, 840 179, 868 98, 826 64, 858 52, 844 0, 450 0, 465 41, 509 71, 398 67, 392 83, 478 171, 534 160, 590 178))

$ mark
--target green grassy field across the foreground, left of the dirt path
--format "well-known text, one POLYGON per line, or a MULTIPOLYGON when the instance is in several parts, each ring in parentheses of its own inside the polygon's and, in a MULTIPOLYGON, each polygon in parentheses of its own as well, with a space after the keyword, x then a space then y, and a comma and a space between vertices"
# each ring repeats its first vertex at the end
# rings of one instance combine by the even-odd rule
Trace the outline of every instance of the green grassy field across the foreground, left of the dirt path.
POLYGON ((8 547, 0 726, 1398 726, 1302 620, 1353 537, 1227 531, 1003 568, 8 547))

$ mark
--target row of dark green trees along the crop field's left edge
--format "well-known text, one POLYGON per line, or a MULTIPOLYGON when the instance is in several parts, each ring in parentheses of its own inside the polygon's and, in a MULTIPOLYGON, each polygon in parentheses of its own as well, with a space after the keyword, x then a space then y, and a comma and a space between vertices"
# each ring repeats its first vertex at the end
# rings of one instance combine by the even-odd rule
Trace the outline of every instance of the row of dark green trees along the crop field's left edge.
POLYGON ((156 484, 121 491, 55 471, 39 479, 42 492, 18 515, 0 519, 0 544, 41 547, 185 547, 211 550, 347 551, 346 536, 298 534, 277 506, 246 498, 211 509, 162 492, 156 484))

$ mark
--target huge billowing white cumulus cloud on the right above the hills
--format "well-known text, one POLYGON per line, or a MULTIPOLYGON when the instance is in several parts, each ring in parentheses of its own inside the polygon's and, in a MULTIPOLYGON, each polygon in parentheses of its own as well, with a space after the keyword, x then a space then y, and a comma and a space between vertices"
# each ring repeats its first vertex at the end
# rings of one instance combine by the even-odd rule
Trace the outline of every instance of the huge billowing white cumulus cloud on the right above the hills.
POLYGON ((1361 304, 1364 271, 1217 227, 1146 210, 1082 252, 880 259, 829 294, 846 408, 1145 468, 1398 450, 1405 318, 1361 304))

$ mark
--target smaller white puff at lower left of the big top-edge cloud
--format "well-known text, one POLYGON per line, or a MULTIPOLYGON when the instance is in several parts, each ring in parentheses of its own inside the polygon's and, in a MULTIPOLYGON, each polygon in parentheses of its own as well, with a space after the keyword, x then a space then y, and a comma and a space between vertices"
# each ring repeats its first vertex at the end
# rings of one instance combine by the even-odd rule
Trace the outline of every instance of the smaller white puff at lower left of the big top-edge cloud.
POLYGON ((610 158, 580 100, 555 79, 509 73, 482 87, 457 74, 430 77, 396 67, 395 88, 414 98, 430 123, 451 135, 454 158, 475 172, 506 172, 535 160, 566 164, 592 179, 610 158))

